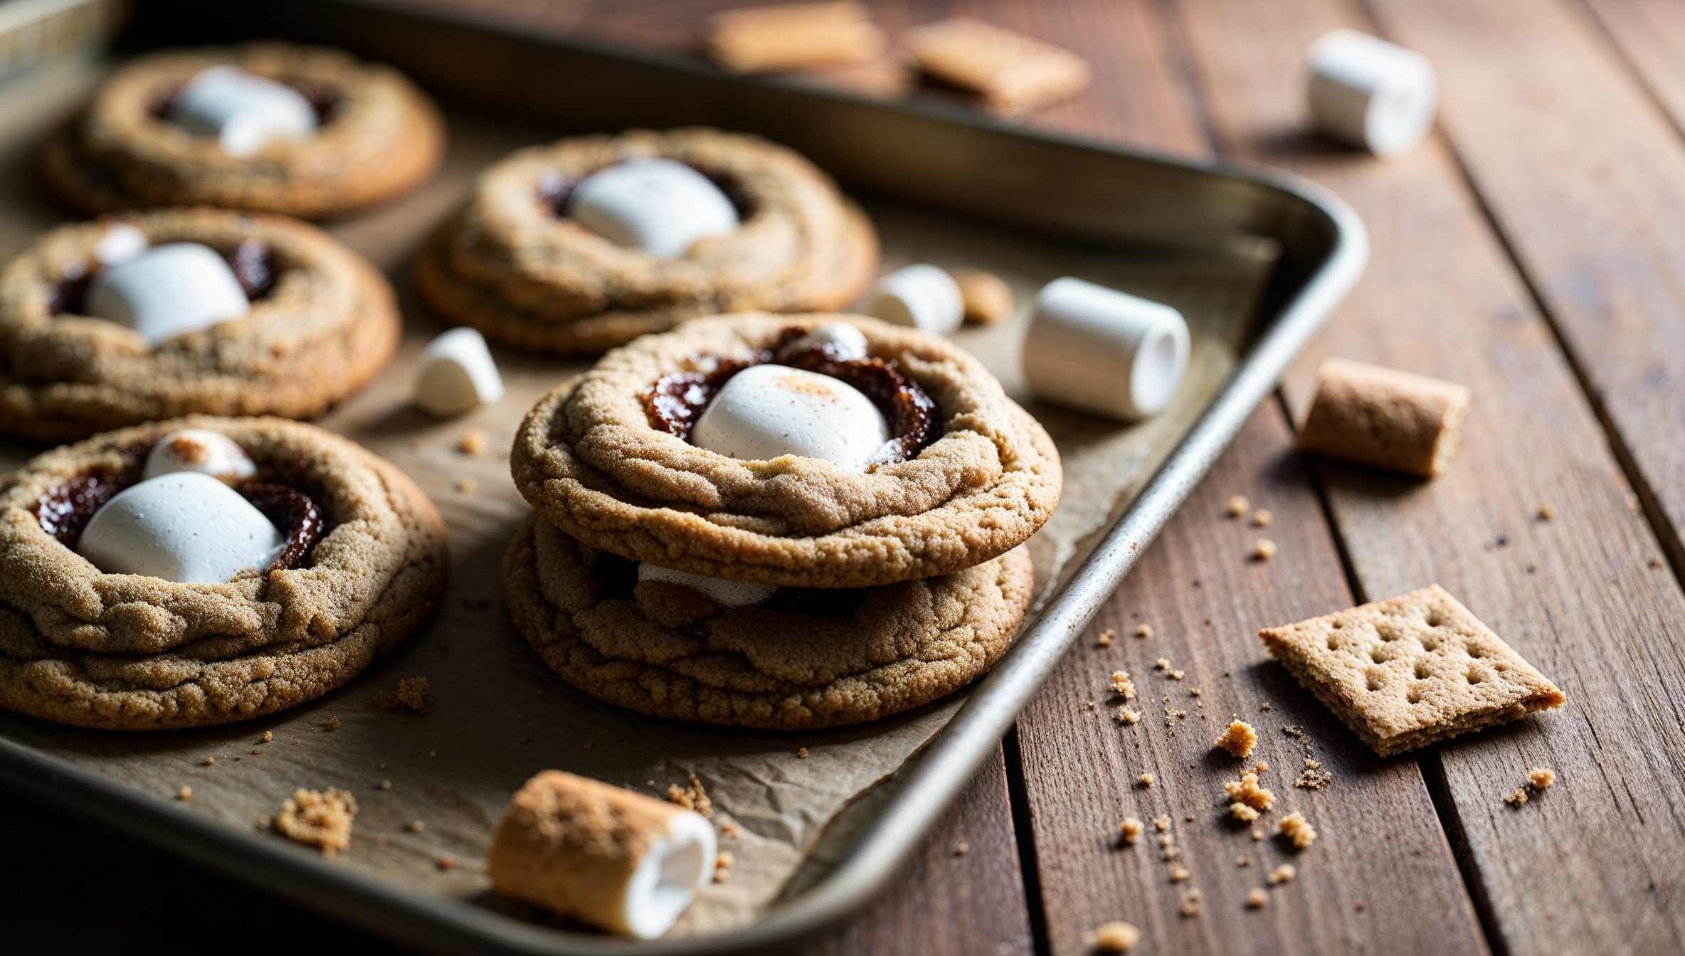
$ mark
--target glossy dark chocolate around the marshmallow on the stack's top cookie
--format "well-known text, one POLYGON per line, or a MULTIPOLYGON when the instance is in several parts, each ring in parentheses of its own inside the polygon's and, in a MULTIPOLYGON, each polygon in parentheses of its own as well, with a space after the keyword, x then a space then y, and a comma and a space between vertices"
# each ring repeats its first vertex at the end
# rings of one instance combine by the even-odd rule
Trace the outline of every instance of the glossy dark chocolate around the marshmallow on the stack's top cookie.
POLYGON ((794 348, 795 340, 804 335, 807 335, 805 328, 790 327, 778 333, 772 348, 762 348, 748 358, 711 357, 716 362, 713 372, 667 372, 655 379, 655 384, 640 396, 649 424, 689 441, 696 419, 703 416, 719 389, 731 380, 731 375, 750 365, 772 362, 839 379, 871 399, 871 404, 890 421, 890 433, 895 436, 873 458, 871 468, 912 459, 935 441, 937 404, 918 382, 901 375, 895 362, 839 358, 829 342, 817 348, 794 348))

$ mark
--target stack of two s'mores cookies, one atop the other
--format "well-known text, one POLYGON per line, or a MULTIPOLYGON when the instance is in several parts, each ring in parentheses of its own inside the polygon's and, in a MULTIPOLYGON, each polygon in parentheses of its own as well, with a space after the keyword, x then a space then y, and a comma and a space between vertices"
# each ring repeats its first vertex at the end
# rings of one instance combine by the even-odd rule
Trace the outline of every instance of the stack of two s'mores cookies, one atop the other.
POLYGON ((738 313, 608 352, 527 414, 538 513, 509 609, 575 687, 650 715, 807 730, 959 690, 1030 604, 1046 433, 950 342, 738 313))

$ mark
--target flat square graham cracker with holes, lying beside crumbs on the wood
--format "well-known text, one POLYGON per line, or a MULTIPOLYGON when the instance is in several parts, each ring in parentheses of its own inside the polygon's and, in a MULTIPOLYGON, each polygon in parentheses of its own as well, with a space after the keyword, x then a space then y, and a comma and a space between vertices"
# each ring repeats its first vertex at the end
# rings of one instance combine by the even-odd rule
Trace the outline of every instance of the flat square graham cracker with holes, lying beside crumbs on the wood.
POLYGON ((1567 700, 1437 584, 1259 636, 1383 757, 1567 700))

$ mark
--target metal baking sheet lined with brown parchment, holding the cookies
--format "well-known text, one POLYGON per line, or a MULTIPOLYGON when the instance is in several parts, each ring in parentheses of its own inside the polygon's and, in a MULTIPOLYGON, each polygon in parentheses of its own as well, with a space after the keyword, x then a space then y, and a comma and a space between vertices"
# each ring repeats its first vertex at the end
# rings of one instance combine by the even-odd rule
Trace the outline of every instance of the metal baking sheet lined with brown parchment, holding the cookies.
MULTIPOLYGON (((136 32, 140 42, 332 42, 394 62, 445 99, 452 155, 443 173, 391 207, 330 227, 394 278, 408 332, 376 385, 320 424, 396 461, 433 495, 452 530, 452 584, 441 613, 403 648, 345 688, 266 720, 138 736, 0 715, 0 778, 54 808, 423 949, 777 948, 864 902, 992 752, 1367 254, 1356 219, 1296 180, 1021 133, 942 109, 730 79, 381 5, 233 12, 150 3, 140 8, 136 32), (187 24, 201 34, 187 35, 187 24), (534 94, 580 84, 612 93, 534 94), (886 268, 989 268, 1021 301, 1055 276, 1078 274, 1171 301, 1195 328, 1195 374, 1176 409, 1154 422, 1121 428, 1030 406, 1060 443, 1067 468, 1060 512, 1030 545, 1040 618, 966 695, 826 734, 650 720, 563 685, 500 611, 497 557, 526 513, 502 449, 526 407, 583 365, 499 352, 511 385, 500 404, 448 424, 409 411, 408 372, 438 327, 409 301, 408 258, 462 200, 473 173, 511 148, 563 131, 682 123, 763 133, 839 175, 876 220, 886 268), (497 451, 455 451, 467 428, 484 431, 497 451), (463 478, 479 488, 460 491, 463 478), (371 707, 374 690, 418 673, 435 685, 435 714, 371 707), (339 730, 327 729, 329 717, 340 719, 339 730), (276 741, 254 746, 265 730, 276 741), (809 759, 795 756, 799 746, 809 759), (204 766, 206 756, 217 762, 204 766), (733 847, 735 879, 711 889, 676 937, 652 944, 590 936, 502 900, 480 868, 490 828, 509 793, 551 766, 655 793, 698 773, 721 816, 743 833, 733 847), (391 789, 381 789, 382 779, 391 789), (167 796, 182 784, 194 788, 187 805, 167 796), (364 806, 350 853, 322 860, 256 830, 293 786, 330 784, 357 791, 364 806), (428 828, 404 831, 411 818, 428 828), (458 865, 438 868, 445 853, 458 865)), ((106 69, 104 61, 64 62, 0 88, 0 256, 66 217, 39 199, 27 165, 40 131, 106 69)), ((1023 318, 959 340, 1028 401, 1014 362, 1023 318)), ((15 466, 29 451, 5 446, 0 466, 15 466)))

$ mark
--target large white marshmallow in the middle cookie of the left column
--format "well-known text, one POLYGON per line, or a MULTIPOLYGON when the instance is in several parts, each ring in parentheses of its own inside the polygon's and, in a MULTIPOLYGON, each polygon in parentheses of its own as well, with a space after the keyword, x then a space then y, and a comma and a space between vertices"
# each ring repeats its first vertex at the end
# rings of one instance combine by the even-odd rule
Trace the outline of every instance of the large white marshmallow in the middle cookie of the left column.
POLYGON ((99 269, 84 311, 110 318, 158 345, 251 311, 234 269, 209 246, 167 242, 99 269))

